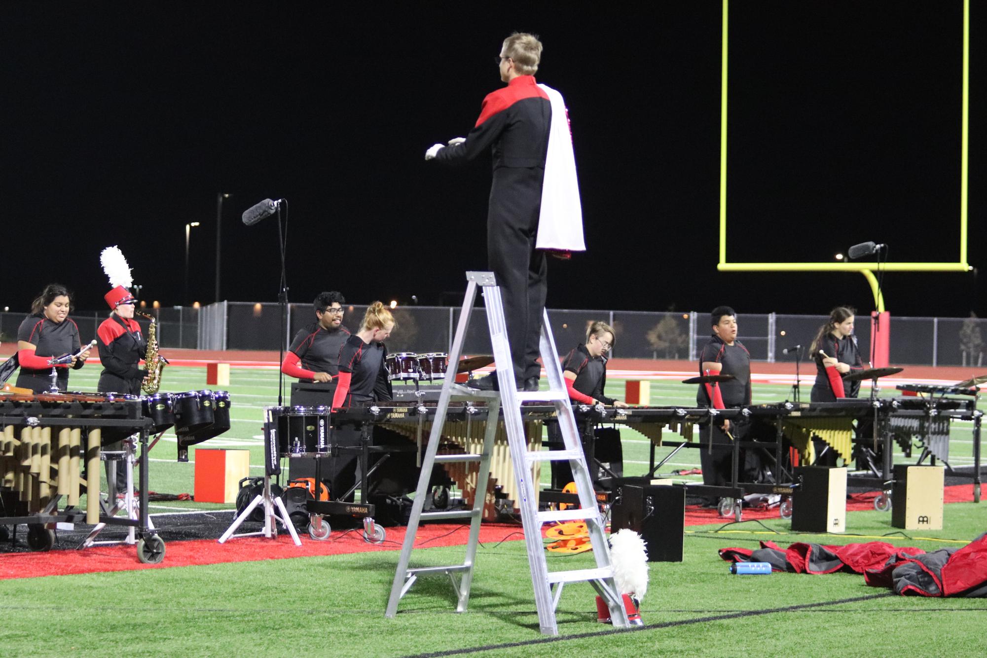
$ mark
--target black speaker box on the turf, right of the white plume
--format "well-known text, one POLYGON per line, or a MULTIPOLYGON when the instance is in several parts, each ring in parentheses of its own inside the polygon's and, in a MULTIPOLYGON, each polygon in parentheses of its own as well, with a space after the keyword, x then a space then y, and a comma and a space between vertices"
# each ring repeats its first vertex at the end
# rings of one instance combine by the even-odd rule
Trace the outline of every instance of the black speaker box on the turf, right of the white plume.
POLYGON ((685 487, 621 484, 611 508, 610 532, 630 528, 645 540, 648 562, 681 562, 685 487))

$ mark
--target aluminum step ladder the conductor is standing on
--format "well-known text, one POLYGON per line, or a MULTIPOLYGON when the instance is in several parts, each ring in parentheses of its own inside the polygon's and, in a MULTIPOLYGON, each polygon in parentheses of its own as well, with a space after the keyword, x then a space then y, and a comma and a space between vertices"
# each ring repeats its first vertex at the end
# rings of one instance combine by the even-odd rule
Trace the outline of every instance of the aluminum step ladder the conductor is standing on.
MULTIPOLYGON (((566 583, 587 581, 603 598, 610 609, 610 618, 615 626, 629 626, 627 612, 624 609, 621 595, 617 592, 613 581, 613 566, 610 561, 610 547, 604 531, 605 520, 597 506, 595 493, 590 481, 582 446, 578 439, 575 418, 569 405, 569 393, 563 379, 559 355, 556 352, 552 329, 549 325, 548 313, 543 314, 540 350, 542 363, 548 373, 549 390, 534 393, 519 393, 514 382, 514 369, 510 358, 510 347, 507 343, 507 332, 503 317, 503 305, 500 289, 496 285, 493 272, 466 272, 467 288, 463 300, 462 313, 456 328, 456 335, 449 354, 449 371, 455 372, 455 364, 462 355, 463 342, 470 325, 470 315, 477 296, 477 288, 483 289, 484 305, 487 309, 487 324, 490 327, 493 344, 493 359, 496 367, 499 391, 477 391, 455 384, 453 376, 446 377, 442 385, 435 418, 432 421, 428 445, 421 463, 421 475, 418 477, 418 490, 412 515, 405 534, 405 542, 401 548, 401 557, 394 574, 394 584, 391 587, 391 597, 387 604, 386 616, 393 618, 398 613, 398 603, 418 576, 428 574, 446 574, 452 581, 458 603, 456 612, 466 611, 470 598, 470 586, 473 581, 473 567, 480 538, 480 522, 483 516, 488 481, 490 479, 491 455, 493 454, 493 438, 496 434, 498 411, 503 408, 503 421, 507 433, 507 443, 511 460, 514 463, 514 480, 517 484, 515 497, 521 508, 521 522, 524 528, 524 542, 528 551, 528 565, 531 568, 531 581, 535 588, 535 604, 538 609, 538 623, 541 631, 556 635, 559 627, 555 611, 559 605, 563 587, 566 583), (485 401, 489 406, 484 446, 481 454, 438 455, 438 447, 445 424, 446 413, 451 401, 485 401), (521 419, 521 404, 523 402, 551 402, 556 409, 559 425, 565 440, 563 450, 546 450, 529 452, 524 436, 524 423, 521 419), (531 478, 532 467, 536 463, 550 461, 569 461, 573 479, 579 496, 579 508, 563 511, 539 512, 536 502, 538 482, 531 478), (477 476, 477 489, 473 501, 473 509, 466 511, 423 512, 425 499, 428 495, 428 480, 434 464, 452 462, 479 462, 480 472, 477 476), (466 555, 461 564, 449 566, 428 566, 409 568, 415 536, 418 534, 418 524, 422 520, 453 520, 469 519, 470 536, 466 544, 466 555), (589 531, 589 539, 596 558, 596 568, 576 569, 570 571, 549 571, 545 558, 545 548, 542 543, 541 528, 543 524, 556 521, 573 521, 584 519, 589 531)), ((590 609, 592 602, 589 602, 590 609)))

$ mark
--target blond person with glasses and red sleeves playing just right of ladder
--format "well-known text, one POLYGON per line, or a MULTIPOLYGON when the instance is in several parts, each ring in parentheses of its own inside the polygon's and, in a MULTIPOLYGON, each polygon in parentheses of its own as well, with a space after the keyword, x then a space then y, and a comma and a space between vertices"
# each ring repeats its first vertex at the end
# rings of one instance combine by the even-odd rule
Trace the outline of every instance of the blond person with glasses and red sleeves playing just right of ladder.
MULTIPOLYGON (((586 330, 586 342, 576 345, 563 360, 563 376, 566 388, 569 390, 569 400, 581 404, 612 404, 626 407, 627 402, 608 398, 603 394, 607 385, 607 352, 615 343, 614 330, 604 322, 594 322, 586 330)), ((582 448, 586 450, 587 433, 591 421, 579 424, 579 438, 582 448)), ((558 422, 546 423, 549 441, 562 448, 564 441, 558 422)), ((603 445, 595 442, 593 457, 599 462, 614 463, 621 461, 611 459, 608 455, 621 455, 620 446, 603 445)), ((612 470, 612 467, 611 467, 612 470)), ((590 473, 596 471, 590 467, 590 473)), ((595 478, 594 478, 595 479, 595 478)), ((568 462, 552 462, 552 485, 555 488, 564 487, 572 480, 572 470, 568 462)))

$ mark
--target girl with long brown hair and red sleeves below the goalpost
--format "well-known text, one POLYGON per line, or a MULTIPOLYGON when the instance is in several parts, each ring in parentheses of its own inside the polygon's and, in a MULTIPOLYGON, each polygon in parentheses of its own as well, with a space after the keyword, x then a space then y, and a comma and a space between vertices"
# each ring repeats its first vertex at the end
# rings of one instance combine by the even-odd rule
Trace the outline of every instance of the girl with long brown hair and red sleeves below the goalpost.
POLYGON ((838 306, 829 312, 829 320, 819 328, 808 348, 815 359, 815 383, 812 402, 835 402, 838 398, 856 398, 860 382, 844 382, 843 376, 863 370, 857 336, 854 335, 856 309, 838 306))

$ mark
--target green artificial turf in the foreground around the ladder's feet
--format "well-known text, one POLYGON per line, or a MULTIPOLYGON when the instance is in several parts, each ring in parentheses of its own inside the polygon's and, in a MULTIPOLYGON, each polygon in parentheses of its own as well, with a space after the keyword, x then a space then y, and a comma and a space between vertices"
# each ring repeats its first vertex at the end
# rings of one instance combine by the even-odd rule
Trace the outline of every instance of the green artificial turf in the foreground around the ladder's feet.
MULTIPOLYGON (((485 646, 518 656, 979 655, 983 599, 881 596, 887 591, 856 574, 729 575, 717 553, 765 539, 842 545, 889 533, 885 541, 898 547, 958 548, 985 526, 973 503, 949 505, 943 531, 911 539, 886 514, 848 517, 854 535, 792 535, 782 520, 764 522, 781 535, 755 522, 687 533, 682 562, 649 564, 647 625, 637 631, 608 633, 612 626, 595 621, 592 589, 571 584, 559 638, 542 635, 524 544, 505 542, 479 549, 461 615, 446 579, 434 576, 416 583, 396 619, 385 619, 397 551, 0 581, 0 646, 9 655, 403 656, 485 646), (535 644, 500 646, 517 642, 535 644)), ((453 563, 462 552, 424 548, 418 563, 453 563)), ((549 562, 578 568, 592 556, 550 554, 549 562)))

